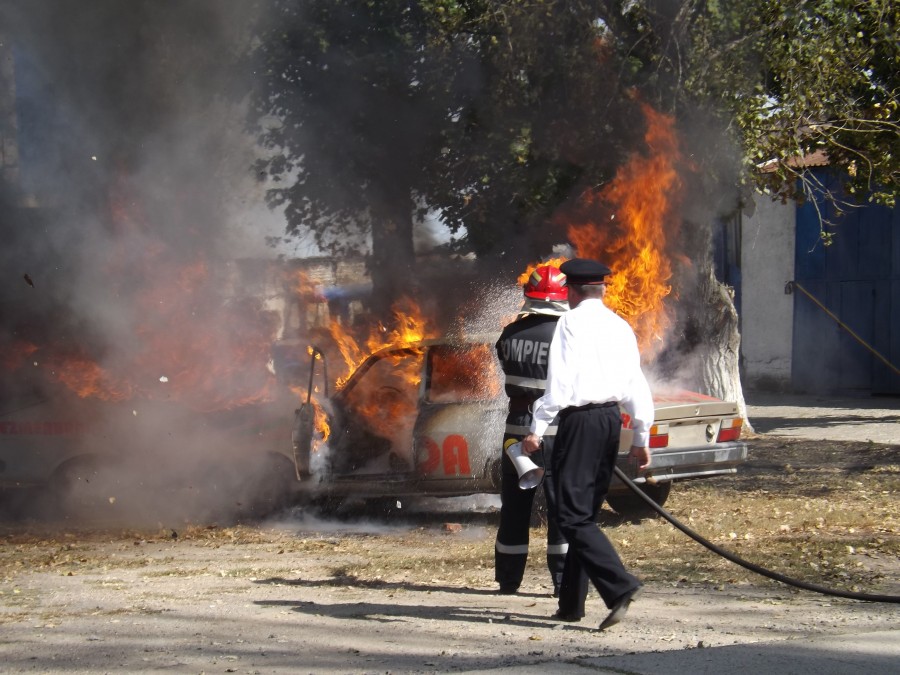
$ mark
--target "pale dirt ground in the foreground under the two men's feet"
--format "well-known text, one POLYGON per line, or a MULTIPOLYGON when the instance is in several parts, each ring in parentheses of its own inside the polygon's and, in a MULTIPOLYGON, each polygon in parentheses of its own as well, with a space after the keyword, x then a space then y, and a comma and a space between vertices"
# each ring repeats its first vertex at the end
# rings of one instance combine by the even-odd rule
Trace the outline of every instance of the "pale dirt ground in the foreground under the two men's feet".
POLYGON ((23 556, 29 565, 4 579, 0 670, 446 672, 896 627, 890 606, 765 582, 673 580, 649 585, 628 619, 601 634, 594 630, 604 615, 599 600, 582 623, 549 619, 554 601, 534 566, 514 597, 493 593, 489 569, 442 568, 441 548, 491 539, 488 524, 470 522, 458 533, 318 529, 293 520, 178 539, 7 539, 23 551, 36 547, 44 559, 23 556), (403 548, 432 567, 379 574, 366 567, 359 542, 369 559, 403 548), (354 576, 360 567, 363 578, 354 576))

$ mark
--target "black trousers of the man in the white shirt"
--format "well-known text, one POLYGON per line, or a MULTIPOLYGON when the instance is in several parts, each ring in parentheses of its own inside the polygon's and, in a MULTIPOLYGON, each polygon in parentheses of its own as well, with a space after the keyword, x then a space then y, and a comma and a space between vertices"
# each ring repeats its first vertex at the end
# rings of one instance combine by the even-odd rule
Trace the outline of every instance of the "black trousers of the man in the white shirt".
POLYGON ((559 528, 569 542, 560 588, 560 611, 584 616, 588 583, 607 607, 640 585, 597 525, 609 491, 622 418, 616 405, 567 408, 559 414, 553 451, 559 528))

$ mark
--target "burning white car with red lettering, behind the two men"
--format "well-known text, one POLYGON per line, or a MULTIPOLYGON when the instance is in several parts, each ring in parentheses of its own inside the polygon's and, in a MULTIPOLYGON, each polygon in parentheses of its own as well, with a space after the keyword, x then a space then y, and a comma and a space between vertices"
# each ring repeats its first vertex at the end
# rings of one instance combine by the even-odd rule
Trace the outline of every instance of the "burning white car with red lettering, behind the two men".
MULTIPOLYGON (((371 355, 323 402, 324 443, 313 404, 301 406, 292 433, 301 491, 364 499, 498 493, 507 398, 495 338, 426 340, 371 355)), ((657 503, 673 482, 735 473, 746 460, 735 403, 686 391, 654 392, 654 402, 652 465, 637 474, 629 466, 627 415, 618 464, 657 503)), ((620 512, 643 506, 618 479, 608 501, 620 512)))

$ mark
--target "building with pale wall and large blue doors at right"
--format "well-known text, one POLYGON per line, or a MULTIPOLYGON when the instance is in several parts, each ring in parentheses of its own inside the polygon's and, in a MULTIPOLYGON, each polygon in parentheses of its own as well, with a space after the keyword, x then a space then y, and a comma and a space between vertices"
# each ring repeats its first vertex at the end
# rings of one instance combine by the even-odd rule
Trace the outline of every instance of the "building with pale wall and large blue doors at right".
MULTIPOLYGON (((839 189, 826 167, 811 171, 839 189)), ((740 223, 744 386, 900 395, 900 206, 754 202, 740 223)))

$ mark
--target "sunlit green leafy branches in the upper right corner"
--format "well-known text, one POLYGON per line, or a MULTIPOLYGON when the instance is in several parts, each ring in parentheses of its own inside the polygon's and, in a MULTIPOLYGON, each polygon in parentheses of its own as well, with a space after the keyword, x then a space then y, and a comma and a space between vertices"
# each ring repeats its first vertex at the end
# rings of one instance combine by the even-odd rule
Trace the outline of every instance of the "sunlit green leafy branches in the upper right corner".
POLYGON ((725 99, 747 161, 770 163, 756 174, 760 182, 793 196, 801 158, 823 152, 847 175, 851 195, 893 204, 900 189, 900 6, 819 0, 742 7, 749 44, 724 44, 719 67, 739 72, 738 60, 760 59, 755 81, 735 92, 742 96, 725 99))

